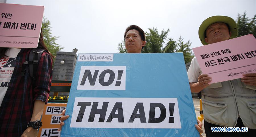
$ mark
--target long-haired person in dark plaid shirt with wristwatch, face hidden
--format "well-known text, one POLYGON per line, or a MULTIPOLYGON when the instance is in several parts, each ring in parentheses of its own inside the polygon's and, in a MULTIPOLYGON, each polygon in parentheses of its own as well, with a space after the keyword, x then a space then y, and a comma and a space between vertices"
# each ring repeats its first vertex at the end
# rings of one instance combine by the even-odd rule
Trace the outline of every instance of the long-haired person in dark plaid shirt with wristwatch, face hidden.
POLYGON ((44 49, 36 76, 30 76, 28 57, 34 48, 0 47, 0 136, 37 136, 48 102, 53 55, 41 30, 37 49, 44 49))

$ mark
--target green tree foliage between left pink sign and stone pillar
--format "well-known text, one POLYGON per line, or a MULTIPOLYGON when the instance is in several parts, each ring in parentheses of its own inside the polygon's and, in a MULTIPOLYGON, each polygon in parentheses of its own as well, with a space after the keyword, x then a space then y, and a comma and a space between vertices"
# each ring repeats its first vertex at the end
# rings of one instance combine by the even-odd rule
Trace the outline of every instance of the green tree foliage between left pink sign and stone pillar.
MULTIPOLYGON (((57 51, 60 51, 64 47, 61 47, 59 44, 55 43, 55 41, 59 37, 51 35, 50 25, 51 25, 51 22, 47 18, 44 18, 42 23, 43 38, 44 38, 44 43, 48 48, 48 50, 51 52, 53 56, 56 56, 57 51)), ((54 59, 53 59, 53 62, 54 62, 54 59)))

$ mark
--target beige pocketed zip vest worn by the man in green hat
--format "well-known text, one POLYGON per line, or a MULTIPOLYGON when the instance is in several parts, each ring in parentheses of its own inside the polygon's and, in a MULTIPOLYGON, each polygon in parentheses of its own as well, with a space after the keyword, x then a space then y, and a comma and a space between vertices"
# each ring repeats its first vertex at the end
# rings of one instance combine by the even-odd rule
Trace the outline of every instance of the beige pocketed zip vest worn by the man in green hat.
POLYGON ((255 86, 247 86, 241 79, 211 84, 201 92, 204 119, 234 127, 240 117, 246 127, 256 129, 255 90, 255 86))

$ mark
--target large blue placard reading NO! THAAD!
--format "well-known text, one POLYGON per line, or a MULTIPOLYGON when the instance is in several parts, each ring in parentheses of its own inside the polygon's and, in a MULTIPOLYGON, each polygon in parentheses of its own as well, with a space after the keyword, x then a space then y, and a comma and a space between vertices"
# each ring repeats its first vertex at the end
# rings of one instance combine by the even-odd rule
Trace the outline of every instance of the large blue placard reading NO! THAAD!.
POLYGON ((199 136, 182 53, 79 54, 61 136, 199 136))

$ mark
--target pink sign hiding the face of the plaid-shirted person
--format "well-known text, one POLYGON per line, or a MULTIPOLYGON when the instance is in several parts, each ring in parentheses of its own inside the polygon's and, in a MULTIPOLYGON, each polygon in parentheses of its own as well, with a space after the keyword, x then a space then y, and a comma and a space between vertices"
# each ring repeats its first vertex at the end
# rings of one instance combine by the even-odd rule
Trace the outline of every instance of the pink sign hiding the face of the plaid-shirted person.
POLYGON ((37 47, 44 6, 0 3, 0 47, 37 47))

